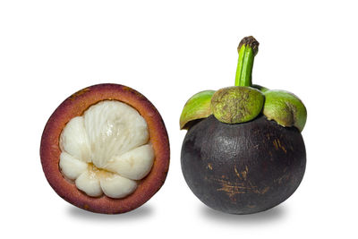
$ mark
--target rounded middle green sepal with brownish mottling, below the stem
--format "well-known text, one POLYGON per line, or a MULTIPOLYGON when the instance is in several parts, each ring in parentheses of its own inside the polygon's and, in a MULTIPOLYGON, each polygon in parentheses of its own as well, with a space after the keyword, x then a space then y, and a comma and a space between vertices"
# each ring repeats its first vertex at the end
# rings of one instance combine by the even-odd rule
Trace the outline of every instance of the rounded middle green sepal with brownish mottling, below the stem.
POLYGON ((233 86, 217 90, 211 98, 211 110, 218 121, 238 124, 256 118, 265 98, 260 90, 233 86))

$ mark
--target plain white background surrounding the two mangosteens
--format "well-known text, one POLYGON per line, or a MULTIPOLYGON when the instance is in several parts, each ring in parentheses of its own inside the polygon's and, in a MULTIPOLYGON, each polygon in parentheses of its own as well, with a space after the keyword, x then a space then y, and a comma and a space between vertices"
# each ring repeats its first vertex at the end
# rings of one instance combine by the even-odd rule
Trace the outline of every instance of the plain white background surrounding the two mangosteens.
POLYGON ((6 238, 356 238, 356 1, 1 1, 1 197, 6 238), (287 201, 249 216, 207 208, 180 168, 179 116, 200 90, 234 84, 241 38, 260 41, 253 82, 308 109, 307 169, 287 201), (171 143, 166 184, 145 205, 107 216, 47 184, 39 142, 64 98, 114 82, 140 91, 171 143), (76 236, 76 237, 74 237, 76 236))

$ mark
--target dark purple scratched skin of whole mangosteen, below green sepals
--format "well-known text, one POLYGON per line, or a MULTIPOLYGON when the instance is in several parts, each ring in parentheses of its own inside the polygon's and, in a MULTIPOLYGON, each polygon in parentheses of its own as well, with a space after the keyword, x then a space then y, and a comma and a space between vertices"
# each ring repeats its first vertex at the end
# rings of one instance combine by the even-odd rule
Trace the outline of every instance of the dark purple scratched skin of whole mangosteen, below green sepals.
POLYGON ((186 183, 200 201, 226 213, 260 212, 286 201, 305 166, 301 133, 263 115, 243 124, 223 124, 210 115, 183 141, 186 183))

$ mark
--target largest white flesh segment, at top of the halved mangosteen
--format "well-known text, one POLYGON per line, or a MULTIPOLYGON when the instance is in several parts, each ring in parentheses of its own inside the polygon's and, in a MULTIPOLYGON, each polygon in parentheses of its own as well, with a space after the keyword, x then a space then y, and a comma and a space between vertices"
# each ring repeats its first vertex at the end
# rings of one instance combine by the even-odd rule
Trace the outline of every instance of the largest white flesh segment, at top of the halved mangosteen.
POLYGON ((105 100, 90 107, 83 115, 89 136, 92 162, 98 167, 128 150, 149 141, 148 126, 132 107, 105 100))

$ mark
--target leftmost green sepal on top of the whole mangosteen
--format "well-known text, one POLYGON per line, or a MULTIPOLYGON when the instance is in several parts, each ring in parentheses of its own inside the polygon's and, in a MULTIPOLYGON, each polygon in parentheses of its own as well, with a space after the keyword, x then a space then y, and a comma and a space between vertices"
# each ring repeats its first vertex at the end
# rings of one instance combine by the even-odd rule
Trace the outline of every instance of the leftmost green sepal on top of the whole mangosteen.
POLYGON ((180 129, 187 130, 192 121, 206 118, 212 114, 210 108, 211 97, 215 90, 204 90, 189 98, 180 115, 180 129))

